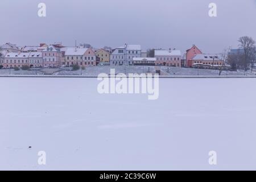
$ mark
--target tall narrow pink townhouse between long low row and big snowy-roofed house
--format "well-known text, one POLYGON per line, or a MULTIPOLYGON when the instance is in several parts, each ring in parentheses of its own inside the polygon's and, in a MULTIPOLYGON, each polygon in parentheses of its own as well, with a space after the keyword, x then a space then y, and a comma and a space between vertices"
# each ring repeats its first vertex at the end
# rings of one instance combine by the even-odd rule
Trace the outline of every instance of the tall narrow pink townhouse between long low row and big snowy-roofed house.
POLYGON ((42 51, 44 68, 60 68, 62 53, 59 48, 48 46, 42 51))

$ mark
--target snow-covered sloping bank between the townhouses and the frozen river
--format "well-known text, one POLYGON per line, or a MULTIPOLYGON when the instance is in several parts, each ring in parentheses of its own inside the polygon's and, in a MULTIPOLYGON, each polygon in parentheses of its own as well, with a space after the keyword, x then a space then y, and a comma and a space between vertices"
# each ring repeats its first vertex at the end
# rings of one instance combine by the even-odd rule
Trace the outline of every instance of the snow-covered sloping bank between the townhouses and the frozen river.
MULTIPOLYGON (((64 68, 63 71, 57 72, 59 69, 55 68, 44 68, 37 73, 34 71, 14 71, 11 69, 11 75, 43 75, 53 74, 53 75, 82 75, 82 76, 98 76, 100 73, 110 74, 110 69, 115 69, 115 73, 155 73, 155 67, 149 66, 102 66, 102 67, 86 67, 85 70, 71 71, 71 68, 64 68)), ((219 71, 212 69, 196 69, 196 68, 178 68, 178 67, 161 67, 160 68, 163 76, 218 76, 219 71), (169 69, 169 72, 168 72, 169 69)), ((0 69, 0 75, 10 75, 10 69, 0 69)), ((222 76, 233 75, 233 76, 243 76, 242 70, 237 72, 223 71, 222 76)), ((255 75, 255 71, 247 71, 247 76, 255 75)))

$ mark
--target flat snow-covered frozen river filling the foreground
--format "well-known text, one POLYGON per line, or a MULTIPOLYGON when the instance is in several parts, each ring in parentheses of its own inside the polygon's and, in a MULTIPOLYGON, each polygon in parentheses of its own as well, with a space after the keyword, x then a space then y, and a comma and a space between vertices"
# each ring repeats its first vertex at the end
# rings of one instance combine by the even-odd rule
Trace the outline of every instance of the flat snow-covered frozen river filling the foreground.
POLYGON ((153 101, 97 84, 0 78, 0 169, 256 169, 255 78, 160 79, 153 101))

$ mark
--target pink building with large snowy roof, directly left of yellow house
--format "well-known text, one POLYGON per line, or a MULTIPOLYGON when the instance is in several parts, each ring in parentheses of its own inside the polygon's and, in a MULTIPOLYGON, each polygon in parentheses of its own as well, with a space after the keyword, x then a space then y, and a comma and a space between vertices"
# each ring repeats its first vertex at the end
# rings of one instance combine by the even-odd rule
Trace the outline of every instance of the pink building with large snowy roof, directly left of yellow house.
POLYGON ((91 48, 67 48, 65 51, 65 66, 74 64, 82 66, 95 66, 96 54, 91 48))

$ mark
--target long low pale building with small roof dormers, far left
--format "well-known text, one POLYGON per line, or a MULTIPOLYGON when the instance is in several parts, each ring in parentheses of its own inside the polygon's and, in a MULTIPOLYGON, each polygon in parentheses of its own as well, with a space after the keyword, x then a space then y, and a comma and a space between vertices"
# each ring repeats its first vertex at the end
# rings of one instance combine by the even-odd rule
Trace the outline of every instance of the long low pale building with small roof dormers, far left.
POLYGON ((29 66, 29 56, 30 53, 28 52, 9 52, 3 61, 3 68, 21 68, 23 65, 29 66))

